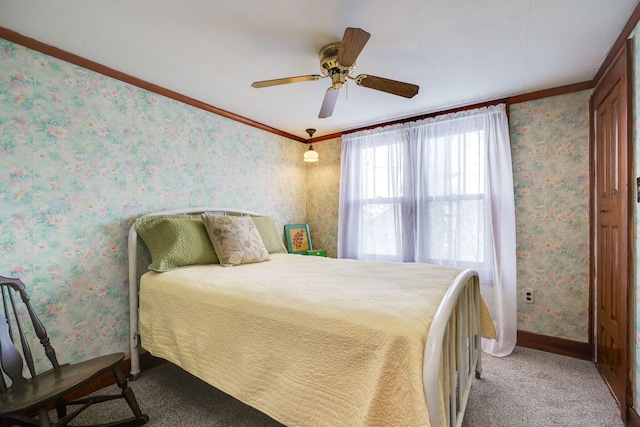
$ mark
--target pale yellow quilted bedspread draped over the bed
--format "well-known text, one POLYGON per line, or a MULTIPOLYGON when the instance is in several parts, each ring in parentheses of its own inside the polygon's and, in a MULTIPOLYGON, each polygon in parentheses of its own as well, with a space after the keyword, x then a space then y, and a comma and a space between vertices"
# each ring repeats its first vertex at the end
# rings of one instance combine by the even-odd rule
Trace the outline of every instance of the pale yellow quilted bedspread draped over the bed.
POLYGON ((290 426, 428 426, 427 331, 459 270, 274 254, 146 273, 142 346, 290 426))

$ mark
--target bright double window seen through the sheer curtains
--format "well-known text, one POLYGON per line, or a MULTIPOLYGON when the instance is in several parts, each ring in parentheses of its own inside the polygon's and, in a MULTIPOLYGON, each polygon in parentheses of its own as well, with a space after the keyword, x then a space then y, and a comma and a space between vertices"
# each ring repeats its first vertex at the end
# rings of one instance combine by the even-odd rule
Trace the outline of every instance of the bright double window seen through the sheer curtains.
POLYGON ((394 140, 359 150, 361 199, 351 202, 362 209, 364 258, 415 261, 417 253, 422 262, 482 262, 484 145, 484 131, 474 130, 430 138, 417 152, 394 140))

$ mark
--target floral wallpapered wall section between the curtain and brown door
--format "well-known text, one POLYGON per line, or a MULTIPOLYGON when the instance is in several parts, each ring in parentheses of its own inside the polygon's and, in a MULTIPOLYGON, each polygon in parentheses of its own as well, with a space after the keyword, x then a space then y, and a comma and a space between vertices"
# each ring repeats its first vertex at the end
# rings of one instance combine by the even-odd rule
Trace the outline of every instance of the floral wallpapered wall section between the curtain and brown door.
POLYGON ((516 204, 518 329, 589 340, 589 96, 510 107, 516 204))

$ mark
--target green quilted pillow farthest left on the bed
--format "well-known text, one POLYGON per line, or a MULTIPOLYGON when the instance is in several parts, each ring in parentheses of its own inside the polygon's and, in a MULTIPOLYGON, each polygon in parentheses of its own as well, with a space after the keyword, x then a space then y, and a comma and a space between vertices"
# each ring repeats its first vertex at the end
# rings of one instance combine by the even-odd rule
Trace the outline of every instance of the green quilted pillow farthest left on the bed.
POLYGON ((219 264, 198 215, 145 216, 136 231, 149 248, 149 270, 163 272, 194 264, 219 264))

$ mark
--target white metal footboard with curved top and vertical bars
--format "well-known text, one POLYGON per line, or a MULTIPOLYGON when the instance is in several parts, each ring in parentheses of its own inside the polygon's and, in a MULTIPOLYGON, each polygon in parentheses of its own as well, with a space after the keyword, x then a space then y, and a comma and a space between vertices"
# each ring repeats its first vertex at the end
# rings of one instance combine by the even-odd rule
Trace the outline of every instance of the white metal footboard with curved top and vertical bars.
POLYGON ((447 291, 429 329, 423 381, 433 427, 462 425, 473 377, 480 378, 480 304, 478 274, 465 270, 447 291))

